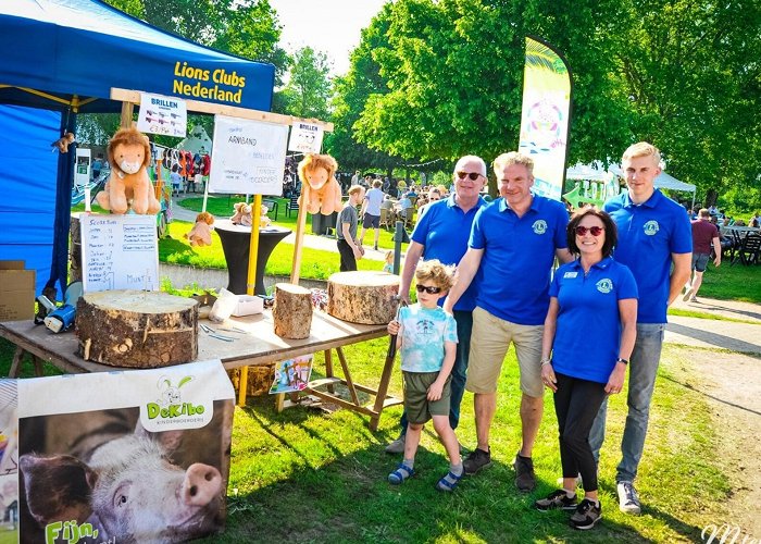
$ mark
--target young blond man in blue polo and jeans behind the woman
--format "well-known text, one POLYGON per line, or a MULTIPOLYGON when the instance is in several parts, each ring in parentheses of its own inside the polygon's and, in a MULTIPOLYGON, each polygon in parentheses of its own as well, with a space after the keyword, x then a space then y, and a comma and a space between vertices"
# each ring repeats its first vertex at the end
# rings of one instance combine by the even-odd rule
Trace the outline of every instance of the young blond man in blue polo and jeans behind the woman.
MULTIPOLYGON (((611 198, 603 207, 619 227, 613 258, 629 268, 639 292, 637 341, 629 362, 628 413, 615 477, 619 507, 627 514, 639 514, 641 509, 633 482, 645 447, 666 309, 689 280, 691 267, 689 219, 682 206, 654 187, 661 173, 660 161, 658 148, 646 141, 626 149, 621 166, 628 193, 611 198)), ((589 434, 596 459, 604 440, 606 412, 603 403, 589 434)))

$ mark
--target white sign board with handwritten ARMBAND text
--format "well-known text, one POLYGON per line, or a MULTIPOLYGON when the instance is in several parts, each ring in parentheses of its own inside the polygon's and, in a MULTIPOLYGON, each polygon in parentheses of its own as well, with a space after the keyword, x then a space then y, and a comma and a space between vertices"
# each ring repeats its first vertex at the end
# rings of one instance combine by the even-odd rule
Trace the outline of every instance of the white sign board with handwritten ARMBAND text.
POLYGON ((214 118, 209 193, 280 195, 288 126, 214 118))

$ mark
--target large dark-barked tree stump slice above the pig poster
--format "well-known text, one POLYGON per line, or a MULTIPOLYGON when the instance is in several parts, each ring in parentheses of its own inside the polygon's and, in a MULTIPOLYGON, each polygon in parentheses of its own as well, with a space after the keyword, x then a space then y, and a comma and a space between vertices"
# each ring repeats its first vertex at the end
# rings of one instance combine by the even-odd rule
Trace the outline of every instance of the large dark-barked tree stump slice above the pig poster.
POLYGON ((79 356, 113 367, 157 368, 198 357, 198 302, 161 292, 103 290, 77 302, 79 356))

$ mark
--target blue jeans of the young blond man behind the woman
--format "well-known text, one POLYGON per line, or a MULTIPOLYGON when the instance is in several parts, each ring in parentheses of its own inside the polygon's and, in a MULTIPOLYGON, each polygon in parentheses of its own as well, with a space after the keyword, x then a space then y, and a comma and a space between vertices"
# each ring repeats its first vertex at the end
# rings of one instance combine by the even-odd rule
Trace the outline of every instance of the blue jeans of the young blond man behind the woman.
MULTIPOLYGON (((616 467, 616 482, 632 482, 637 477, 637 468, 645 448, 648 418, 650 417, 650 399, 656 386, 658 363, 661 359, 663 346, 663 331, 665 323, 637 323, 637 342, 628 369, 628 397, 626 405, 626 426, 624 437, 621 441, 621 462, 616 467)), ((600 448, 606 438, 606 416, 608 413, 608 400, 606 399, 597 412, 595 423, 589 433, 595 460, 599 465, 600 448)))

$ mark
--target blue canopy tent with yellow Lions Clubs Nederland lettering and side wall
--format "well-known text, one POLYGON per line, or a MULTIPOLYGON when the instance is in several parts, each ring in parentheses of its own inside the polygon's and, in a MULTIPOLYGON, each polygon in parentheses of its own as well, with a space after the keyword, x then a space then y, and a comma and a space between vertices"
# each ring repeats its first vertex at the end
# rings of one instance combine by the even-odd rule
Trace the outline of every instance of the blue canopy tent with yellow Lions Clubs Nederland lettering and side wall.
POLYGON ((0 129, 13 135, 0 151, 0 258, 35 268, 38 293, 67 277, 75 153, 51 153, 50 143, 76 133, 77 113, 120 111, 112 87, 272 107, 273 65, 201 47, 99 0, 0 2, 0 103, 12 104, 0 107, 0 129))

